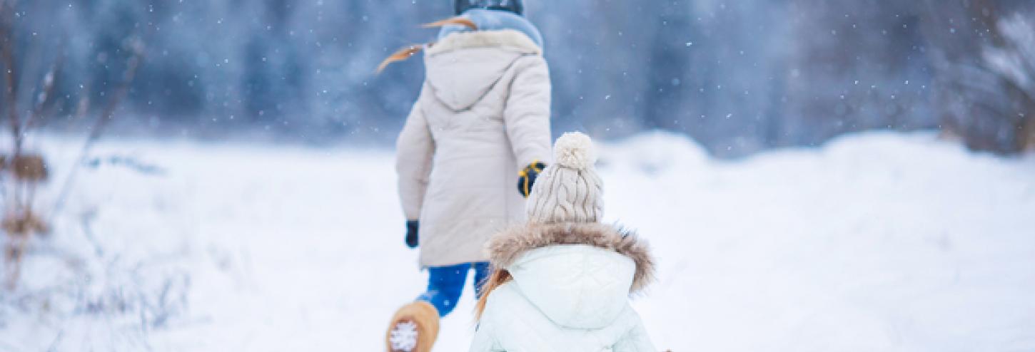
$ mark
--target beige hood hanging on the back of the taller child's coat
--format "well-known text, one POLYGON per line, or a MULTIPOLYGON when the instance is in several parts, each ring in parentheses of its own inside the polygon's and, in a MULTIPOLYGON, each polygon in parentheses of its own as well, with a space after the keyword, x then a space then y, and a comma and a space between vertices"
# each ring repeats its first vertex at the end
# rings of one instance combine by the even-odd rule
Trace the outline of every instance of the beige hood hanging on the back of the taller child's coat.
POLYGON ((435 96, 455 111, 474 106, 504 73, 539 46, 515 30, 453 32, 427 49, 426 81, 435 96))

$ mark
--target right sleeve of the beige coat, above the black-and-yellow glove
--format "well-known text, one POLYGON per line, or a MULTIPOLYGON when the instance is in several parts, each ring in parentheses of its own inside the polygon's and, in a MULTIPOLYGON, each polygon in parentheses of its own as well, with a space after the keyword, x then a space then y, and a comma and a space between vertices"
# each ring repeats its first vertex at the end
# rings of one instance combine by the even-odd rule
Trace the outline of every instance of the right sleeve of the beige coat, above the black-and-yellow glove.
POLYGON ((550 69, 541 56, 518 62, 503 111, 507 137, 518 158, 518 169, 533 161, 550 162, 550 69))

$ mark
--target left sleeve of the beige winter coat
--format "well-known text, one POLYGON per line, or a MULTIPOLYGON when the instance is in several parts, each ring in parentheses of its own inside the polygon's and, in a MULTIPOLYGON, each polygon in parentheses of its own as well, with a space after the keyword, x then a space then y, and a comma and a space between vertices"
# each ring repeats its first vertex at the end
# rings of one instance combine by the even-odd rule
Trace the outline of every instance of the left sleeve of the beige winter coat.
POLYGON ((398 196, 406 220, 420 218, 432 171, 432 157, 435 155, 435 139, 420 104, 426 91, 424 86, 395 140, 395 172, 398 174, 398 196))

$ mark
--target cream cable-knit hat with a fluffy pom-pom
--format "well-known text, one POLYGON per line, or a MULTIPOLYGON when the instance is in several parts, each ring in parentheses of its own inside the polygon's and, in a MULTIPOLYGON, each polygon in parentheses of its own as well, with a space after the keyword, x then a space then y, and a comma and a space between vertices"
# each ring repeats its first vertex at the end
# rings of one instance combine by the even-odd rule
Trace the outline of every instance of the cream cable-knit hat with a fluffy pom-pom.
POLYGON ((603 184, 593 163, 593 141, 581 132, 564 133, 554 145, 554 164, 535 180, 528 196, 528 220, 537 223, 599 222, 603 184))

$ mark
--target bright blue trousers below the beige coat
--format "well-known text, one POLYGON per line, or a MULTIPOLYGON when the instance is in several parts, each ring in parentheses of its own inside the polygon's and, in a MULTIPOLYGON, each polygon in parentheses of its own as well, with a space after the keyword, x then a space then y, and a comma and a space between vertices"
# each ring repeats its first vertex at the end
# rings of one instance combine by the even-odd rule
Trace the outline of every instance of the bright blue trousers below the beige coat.
POLYGON ((445 317, 464 293, 464 283, 467 282, 467 271, 474 269, 474 294, 481 296, 481 282, 489 278, 489 262, 463 263, 449 266, 432 266, 427 268, 427 291, 417 297, 435 309, 439 316, 445 317))

